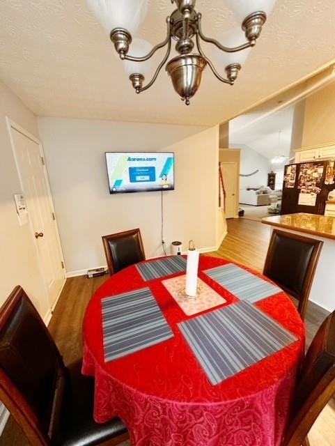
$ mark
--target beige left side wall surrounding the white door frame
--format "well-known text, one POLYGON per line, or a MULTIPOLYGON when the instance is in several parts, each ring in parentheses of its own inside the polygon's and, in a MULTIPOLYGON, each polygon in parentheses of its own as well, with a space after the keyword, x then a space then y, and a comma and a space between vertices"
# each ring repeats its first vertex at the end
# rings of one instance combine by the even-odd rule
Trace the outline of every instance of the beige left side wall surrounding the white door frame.
POLYGON ((6 116, 38 137, 36 116, 0 82, 0 305, 15 285, 21 285, 42 317, 49 302, 38 270, 29 224, 20 226, 13 194, 22 192, 6 125, 6 116))

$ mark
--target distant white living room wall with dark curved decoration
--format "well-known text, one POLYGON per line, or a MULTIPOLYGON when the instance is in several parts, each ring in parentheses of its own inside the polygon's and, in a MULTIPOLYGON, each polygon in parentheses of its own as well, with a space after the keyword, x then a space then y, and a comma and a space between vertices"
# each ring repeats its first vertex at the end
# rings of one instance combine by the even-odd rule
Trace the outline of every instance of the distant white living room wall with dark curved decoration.
MULTIPOLYGON (((231 148, 235 148, 233 145, 231 148)), ((241 148, 241 146, 239 146, 241 148)), ((254 151, 248 146, 242 146, 241 149, 241 162, 240 162, 240 174, 251 174, 258 170, 257 174, 252 176, 240 176, 240 189, 246 189, 247 187, 266 186, 267 174, 270 172, 270 161, 254 151)))

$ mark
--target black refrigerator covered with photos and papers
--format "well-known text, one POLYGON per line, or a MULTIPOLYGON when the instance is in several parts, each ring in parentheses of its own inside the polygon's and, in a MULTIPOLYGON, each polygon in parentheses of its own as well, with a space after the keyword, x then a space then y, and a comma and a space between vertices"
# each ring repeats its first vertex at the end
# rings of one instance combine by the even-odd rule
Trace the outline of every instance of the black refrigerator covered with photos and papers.
POLYGON ((284 167, 281 215, 325 213, 325 202, 335 189, 334 160, 300 162, 284 167))

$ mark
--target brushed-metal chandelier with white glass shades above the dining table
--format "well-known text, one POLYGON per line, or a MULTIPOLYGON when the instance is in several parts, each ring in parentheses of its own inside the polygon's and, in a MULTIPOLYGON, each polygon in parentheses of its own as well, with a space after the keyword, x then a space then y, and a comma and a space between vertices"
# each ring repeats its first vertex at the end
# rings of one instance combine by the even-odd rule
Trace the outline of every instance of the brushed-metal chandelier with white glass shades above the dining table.
POLYGON ((196 0, 171 0, 171 3, 176 3, 176 9, 169 17, 166 17, 166 39, 155 47, 143 39, 133 41, 133 36, 146 17, 148 0, 88 0, 88 4, 110 32, 111 41, 120 59, 125 61, 125 70, 130 75, 130 81, 136 93, 148 90, 166 64, 165 69, 171 77, 173 88, 180 98, 185 100, 185 104, 189 105, 190 98, 200 86, 201 75, 206 66, 210 67, 219 81, 224 84, 234 84, 241 69, 241 63, 246 59, 245 50, 256 44, 275 1, 226 0, 237 20, 242 23, 242 31, 244 31, 244 35, 239 31, 243 43, 229 47, 203 34, 201 13, 197 13, 195 9, 196 0), (178 56, 168 61, 172 40, 176 41, 178 56), (212 61, 205 55, 201 47, 202 41, 214 45, 218 55, 219 53, 228 54, 228 63, 223 67, 226 77, 219 74, 212 61), (144 84, 145 75, 150 71, 149 59, 163 47, 166 47, 164 58, 150 81, 144 84), (128 54, 128 51, 133 52, 132 55, 128 54))

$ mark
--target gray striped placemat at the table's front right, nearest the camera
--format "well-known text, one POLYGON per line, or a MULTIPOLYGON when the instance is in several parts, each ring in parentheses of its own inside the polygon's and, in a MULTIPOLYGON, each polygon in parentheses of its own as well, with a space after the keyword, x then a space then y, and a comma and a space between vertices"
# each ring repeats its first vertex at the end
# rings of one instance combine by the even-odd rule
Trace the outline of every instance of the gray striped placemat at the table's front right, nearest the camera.
POLYGON ((249 302, 237 302, 178 324, 212 385, 297 341, 249 302))

